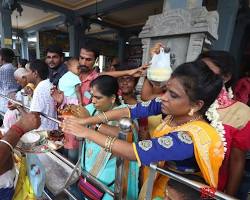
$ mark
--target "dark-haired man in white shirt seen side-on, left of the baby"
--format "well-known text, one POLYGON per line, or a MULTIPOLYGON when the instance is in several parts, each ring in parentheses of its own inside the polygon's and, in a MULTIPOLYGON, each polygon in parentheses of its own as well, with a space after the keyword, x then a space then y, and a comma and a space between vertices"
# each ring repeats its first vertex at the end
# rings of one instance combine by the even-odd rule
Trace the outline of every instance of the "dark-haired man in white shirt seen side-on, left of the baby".
MULTIPOLYGON (((48 79, 48 65, 41 60, 34 60, 30 63, 28 82, 35 85, 33 98, 30 104, 30 111, 44 113, 56 118, 56 107, 53 98, 50 96, 50 89, 53 84, 48 79)), ((55 122, 41 116, 41 126, 38 130, 55 130, 58 126, 55 122)))

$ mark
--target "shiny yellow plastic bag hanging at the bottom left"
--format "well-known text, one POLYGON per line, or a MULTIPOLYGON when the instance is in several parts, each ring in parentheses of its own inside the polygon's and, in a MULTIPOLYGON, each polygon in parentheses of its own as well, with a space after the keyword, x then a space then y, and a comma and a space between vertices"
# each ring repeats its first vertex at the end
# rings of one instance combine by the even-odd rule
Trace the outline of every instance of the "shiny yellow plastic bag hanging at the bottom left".
POLYGON ((36 200, 33 188, 27 175, 26 157, 21 158, 19 176, 13 200, 36 200))

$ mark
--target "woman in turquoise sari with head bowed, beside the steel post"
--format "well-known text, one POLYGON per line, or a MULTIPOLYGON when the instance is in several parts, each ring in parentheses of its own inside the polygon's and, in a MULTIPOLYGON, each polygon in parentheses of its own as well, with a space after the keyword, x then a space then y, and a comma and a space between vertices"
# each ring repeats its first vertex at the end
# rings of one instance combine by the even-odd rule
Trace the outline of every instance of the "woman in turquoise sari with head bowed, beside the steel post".
MULTIPOLYGON (((90 87, 92 103, 85 106, 90 116, 125 107, 120 105, 118 99, 119 86, 116 78, 108 75, 99 76, 91 82, 90 87)), ((109 133, 117 136, 119 132, 117 125, 117 121, 109 121, 96 124, 92 128, 104 134, 108 129, 109 133)), ((137 141, 136 133, 133 136, 133 141, 137 141)), ((103 147, 86 139, 82 148, 81 167, 109 188, 114 189, 116 157, 106 152, 103 147)), ((139 168, 136 162, 130 162, 128 174, 127 199, 137 199, 139 168)), ((103 199, 108 200, 112 197, 105 194, 103 199)))

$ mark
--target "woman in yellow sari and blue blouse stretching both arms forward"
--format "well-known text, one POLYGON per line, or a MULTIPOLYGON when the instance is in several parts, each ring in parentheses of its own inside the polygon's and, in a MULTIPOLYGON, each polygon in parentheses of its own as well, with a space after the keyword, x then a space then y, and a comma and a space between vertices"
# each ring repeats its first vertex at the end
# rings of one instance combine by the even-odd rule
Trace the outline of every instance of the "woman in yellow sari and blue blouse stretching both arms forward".
MULTIPOLYGON (((82 120, 65 117, 64 131, 74 133, 103 146, 106 151, 129 160, 137 160, 139 165, 167 161, 165 167, 176 172, 195 174, 211 187, 218 184, 218 173, 224 158, 223 131, 217 132, 205 117, 222 88, 222 79, 215 75, 203 62, 180 65, 166 83, 166 92, 161 99, 137 104, 134 108, 123 108, 82 120), (167 115, 156 128, 154 138, 129 144, 111 136, 95 134, 83 125, 96 124, 121 117, 132 119, 157 115, 167 115)), ((216 123, 212 123, 213 125, 216 123)), ((164 198, 167 179, 157 176, 153 198, 164 198), (159 182, 161 184, 159 184, 159 182), (164 184, 162 184, 164 183, 164 184), (161 187, 158 187, 161 185, 161 187)), ((191 190, 191 189, 190 189, 191 190)), ((171 194, 169 193, 170 198, 171 194)), ((190 199, 195 199, 191 197, 190 199)))

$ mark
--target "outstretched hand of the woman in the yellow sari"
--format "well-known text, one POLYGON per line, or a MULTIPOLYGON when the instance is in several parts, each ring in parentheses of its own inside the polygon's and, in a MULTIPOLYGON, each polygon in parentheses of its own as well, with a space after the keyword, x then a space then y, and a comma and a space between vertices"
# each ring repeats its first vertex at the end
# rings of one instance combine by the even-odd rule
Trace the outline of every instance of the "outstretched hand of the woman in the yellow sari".
POLYGON ((89 129, 80 124, 79 119, 78 122, 76 122, 75 119, 73 116, 65 116, 60 124, 62 131, 77 137, 87 137, 89 129))

